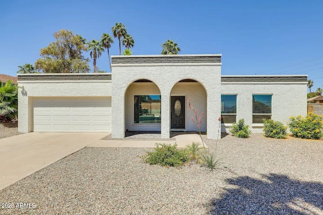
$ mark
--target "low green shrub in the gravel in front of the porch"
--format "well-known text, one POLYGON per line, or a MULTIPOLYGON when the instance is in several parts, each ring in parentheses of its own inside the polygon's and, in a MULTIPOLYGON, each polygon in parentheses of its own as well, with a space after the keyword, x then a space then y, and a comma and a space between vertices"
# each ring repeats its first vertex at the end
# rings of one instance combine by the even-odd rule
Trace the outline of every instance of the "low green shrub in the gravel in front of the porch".
POLYGON ((146 152, 143 157, 145 163, 156 164, 165 167, 183 166, 189 161, 189 151, 187 149, 177 149, 177 145, 156 144, 152 152, 146 152))

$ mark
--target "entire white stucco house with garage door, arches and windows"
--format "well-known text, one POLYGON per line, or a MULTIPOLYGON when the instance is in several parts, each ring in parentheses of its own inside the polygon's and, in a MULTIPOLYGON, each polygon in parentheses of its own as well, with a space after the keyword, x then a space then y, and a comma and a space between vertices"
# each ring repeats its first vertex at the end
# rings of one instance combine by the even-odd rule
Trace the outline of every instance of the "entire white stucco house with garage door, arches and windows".
POLYGON ((222 76, 221 54, 112 56, 112 73, 19 74, 19 132, 201 130, 219 138, 244 118, 253 132, 262 119, 306 115, 307 75, 222 76), (219 117, 222 116, 221 123, 219 117))

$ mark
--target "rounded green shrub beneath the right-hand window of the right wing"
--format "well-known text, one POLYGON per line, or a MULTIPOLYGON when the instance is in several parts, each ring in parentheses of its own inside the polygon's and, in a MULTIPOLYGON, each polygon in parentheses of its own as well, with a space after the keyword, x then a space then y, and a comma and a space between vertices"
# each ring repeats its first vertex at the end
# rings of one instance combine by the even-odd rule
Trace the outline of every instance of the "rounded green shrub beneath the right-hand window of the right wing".
POLYGON ((273 119, 263 119, 263 131, 266 137, 286 138, 287 127, 273 119))

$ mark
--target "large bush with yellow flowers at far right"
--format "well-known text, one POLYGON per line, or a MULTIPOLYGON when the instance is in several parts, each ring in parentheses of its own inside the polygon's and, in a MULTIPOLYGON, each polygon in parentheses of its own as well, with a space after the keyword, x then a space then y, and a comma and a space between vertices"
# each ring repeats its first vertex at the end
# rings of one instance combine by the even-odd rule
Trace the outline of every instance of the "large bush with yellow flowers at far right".
POLYGON ((323 136, 322 116, 313 113, 308 113, 306 117, 290 117, 288 126, 295 137, 319 139, 323 136))

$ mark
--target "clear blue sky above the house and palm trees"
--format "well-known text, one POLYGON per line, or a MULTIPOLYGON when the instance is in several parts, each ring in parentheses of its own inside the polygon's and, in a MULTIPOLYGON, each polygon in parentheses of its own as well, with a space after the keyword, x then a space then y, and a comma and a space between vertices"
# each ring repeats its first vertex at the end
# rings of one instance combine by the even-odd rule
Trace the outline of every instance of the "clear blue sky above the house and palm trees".
MULTIPOLYGON (((34 63, 60 29, 92 40, 112 34, 116 22, 133 36, 133 54, 160 54, 161 43, 172 39, 181 54, 222 53, 223 75, 307 74, 312 90, 323 88, 321 0, 4 0, 0 74, 16 76, 18 65, 34 63)), ((110 53, 118 49, 115 39, 110 53)), ((106 52, 97 66, 110 71, 106 52)))

